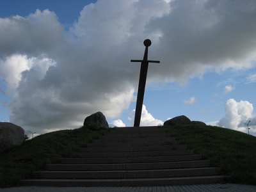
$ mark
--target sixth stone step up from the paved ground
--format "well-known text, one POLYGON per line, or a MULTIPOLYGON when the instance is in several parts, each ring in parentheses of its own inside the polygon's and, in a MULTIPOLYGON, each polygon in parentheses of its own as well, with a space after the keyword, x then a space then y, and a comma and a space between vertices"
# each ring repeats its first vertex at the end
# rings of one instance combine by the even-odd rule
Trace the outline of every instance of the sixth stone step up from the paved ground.
POLYGON ((139 152, 139 151, 160 151, 160 150, 184 150, 187 148, 187 145, 152 145, 148 146, 132 146, 124 145, 118 147, 87 147, 87 148, 77 148, 77 152, 139 152))

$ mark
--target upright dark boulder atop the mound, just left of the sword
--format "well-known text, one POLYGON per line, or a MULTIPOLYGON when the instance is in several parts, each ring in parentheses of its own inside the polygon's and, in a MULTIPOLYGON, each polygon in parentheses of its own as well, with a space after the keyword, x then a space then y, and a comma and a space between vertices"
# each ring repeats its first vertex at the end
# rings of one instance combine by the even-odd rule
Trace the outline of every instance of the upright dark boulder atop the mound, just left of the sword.
POLYGON ((87 116, 84 119, 84 127, 88 127, 93 131, 109 128, 106 117, 100 111, 87 116))

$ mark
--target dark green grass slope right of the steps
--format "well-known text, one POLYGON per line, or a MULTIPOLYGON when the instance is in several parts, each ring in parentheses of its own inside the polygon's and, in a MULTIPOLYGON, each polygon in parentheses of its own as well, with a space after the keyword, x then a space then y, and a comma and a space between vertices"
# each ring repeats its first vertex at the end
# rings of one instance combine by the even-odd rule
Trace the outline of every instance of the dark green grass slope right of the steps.
POLYGON ((227 182, 256 185, 256 137, 243 132, 205 125, 164 127, 212 166, 221 168, 227 182))

